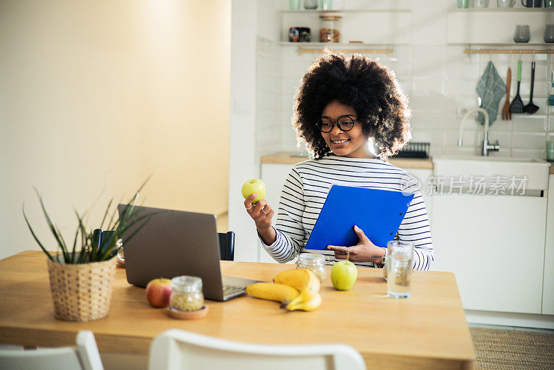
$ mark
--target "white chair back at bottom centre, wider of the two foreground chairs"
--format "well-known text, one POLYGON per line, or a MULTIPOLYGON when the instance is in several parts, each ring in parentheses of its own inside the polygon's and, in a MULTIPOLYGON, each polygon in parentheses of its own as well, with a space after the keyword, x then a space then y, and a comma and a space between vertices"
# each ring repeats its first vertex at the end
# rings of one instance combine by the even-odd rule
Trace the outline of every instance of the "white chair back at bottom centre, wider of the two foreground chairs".
POLYGON ((345 344, 249 344, 179 329, 150 346, 150 370, 264 369, 365 370, 358 351, 345 344))

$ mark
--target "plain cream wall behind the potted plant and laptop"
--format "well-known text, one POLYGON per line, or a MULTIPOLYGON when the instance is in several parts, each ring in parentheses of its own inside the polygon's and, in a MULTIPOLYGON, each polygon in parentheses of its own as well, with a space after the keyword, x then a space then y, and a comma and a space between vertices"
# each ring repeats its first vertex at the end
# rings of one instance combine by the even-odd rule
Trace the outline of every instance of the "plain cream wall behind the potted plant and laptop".
POLYGON ((0 258, 55 249, 100 196, 217 213, 229 173, 229 1, 0 2, 0 258), (103 191, 103 193, 102 193, 103 191), (101 195, 100 195, 101 194, 101 195))

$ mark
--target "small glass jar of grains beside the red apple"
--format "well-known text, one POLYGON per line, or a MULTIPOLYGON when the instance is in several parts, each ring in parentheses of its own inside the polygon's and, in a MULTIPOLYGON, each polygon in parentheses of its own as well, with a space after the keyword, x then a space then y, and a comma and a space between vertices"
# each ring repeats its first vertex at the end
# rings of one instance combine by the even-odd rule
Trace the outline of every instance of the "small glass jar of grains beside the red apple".
POLYGON ((177 312, 197 311, 204 307, 202 279, 197 276, 177 276, 171 279, 170 309, 177 312))

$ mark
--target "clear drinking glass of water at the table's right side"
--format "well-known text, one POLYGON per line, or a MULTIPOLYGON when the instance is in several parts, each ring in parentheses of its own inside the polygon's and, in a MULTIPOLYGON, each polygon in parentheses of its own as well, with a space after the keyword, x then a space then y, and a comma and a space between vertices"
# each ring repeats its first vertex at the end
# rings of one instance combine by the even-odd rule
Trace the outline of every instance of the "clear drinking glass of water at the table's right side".
POLYGON ((391 298, 411 297, 411 270, 413 243, 391 240, 386 245, 387 279, 386 292, 391 298))

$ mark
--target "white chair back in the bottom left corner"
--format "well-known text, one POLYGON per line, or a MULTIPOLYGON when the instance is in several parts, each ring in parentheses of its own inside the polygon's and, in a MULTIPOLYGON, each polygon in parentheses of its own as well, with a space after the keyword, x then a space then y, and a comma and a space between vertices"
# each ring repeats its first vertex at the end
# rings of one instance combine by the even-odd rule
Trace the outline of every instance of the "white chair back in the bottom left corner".
POLYGON ((103 370, 91 331, 80 331, 76 347, 0 350, 2 370, 103 370))

